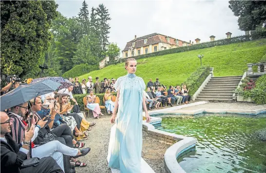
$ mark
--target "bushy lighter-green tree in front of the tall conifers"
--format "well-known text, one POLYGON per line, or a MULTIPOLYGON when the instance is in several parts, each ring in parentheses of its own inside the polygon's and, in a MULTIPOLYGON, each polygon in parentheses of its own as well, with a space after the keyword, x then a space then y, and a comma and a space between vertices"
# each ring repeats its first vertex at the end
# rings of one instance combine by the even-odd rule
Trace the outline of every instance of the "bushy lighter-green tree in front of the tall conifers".
POLYGON ((96 65, 99 60, 96 56, 91 52, 91 43, 90 39, 87 35, 85 35, 81 41, 77 45, 77 50, 73 57, 73 63, 75 65, 79 64, 88 64, 88 65, 96 65))

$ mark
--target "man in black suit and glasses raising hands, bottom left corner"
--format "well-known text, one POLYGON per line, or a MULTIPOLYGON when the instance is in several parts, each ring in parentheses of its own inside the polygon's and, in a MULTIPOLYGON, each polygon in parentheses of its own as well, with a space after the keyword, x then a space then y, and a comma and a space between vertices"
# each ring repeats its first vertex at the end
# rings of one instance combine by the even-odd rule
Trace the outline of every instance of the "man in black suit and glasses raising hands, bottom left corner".
POLYGON ((37 165, 22 168, 21 165, 29 152, 29 141, 34 135, 34 126, 25 131, 25 140, 18 145, 9 135, 12 121, 5 112, 0 112, 0 121, 2 173, 63 173, 52 157, 43 157, 37 165))

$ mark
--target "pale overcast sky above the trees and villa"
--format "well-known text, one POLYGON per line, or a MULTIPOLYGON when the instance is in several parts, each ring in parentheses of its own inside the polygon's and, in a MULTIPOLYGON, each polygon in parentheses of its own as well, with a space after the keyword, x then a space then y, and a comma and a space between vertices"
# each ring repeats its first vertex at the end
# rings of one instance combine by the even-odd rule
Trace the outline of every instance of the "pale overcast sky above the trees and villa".
MULTIPOLYGON (((77 16, 83 0, 56 0, 57 11, 63 16, 77 16)), ((88 7, 103 3, 109 10, 110 38, 121 50, 137 37, 159 33, 184 41, 209 41, 244 35, 237 24, 237 17, 228 8, 227 0, 86 0, 88 7)))

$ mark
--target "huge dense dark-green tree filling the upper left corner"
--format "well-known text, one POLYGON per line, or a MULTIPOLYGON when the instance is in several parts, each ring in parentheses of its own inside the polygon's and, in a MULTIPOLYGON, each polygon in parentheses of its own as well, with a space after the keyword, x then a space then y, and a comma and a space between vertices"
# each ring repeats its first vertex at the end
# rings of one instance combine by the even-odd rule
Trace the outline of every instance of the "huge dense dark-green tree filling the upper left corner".
POLYGON ((52 38, 57 4, 50 1, 1 2, 1 73, 21 77, 38 70, 52 38))

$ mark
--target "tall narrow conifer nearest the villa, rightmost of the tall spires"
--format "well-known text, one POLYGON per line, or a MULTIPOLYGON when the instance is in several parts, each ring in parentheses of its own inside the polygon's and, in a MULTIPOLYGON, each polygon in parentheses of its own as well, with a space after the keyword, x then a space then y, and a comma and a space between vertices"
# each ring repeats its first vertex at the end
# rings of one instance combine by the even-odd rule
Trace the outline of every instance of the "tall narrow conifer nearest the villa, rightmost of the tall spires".
POLYGON ((96 8, 96 15, 98 20, 98 27, 99 27, 99 39, 101 44, 101 49, 103 51, 106 50, 106 45, 109 43, 109 33, 110 33, 110 25, 108 23, 111 18, 109 17, 110 14, 108 12, 108 9, 103 4, 99 4, 99 6, 96 8))

